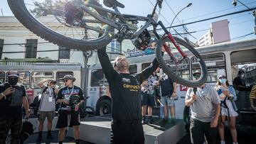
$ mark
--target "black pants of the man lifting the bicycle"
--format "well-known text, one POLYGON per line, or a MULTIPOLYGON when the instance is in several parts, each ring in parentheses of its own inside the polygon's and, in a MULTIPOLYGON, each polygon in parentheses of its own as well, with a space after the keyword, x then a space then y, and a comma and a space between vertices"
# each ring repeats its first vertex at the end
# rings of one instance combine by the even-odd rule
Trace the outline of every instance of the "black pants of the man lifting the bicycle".
POLYGON ((115 121, 111 123, 111 144, 144 144, 141 120, 115 121))

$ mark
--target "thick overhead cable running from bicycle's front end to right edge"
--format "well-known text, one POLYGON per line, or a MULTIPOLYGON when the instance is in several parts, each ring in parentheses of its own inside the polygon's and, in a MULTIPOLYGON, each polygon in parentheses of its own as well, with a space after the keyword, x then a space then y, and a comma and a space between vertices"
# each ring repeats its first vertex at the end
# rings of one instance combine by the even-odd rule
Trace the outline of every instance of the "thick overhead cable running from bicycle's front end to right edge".
MULTIPOLYGON (((192 23, 199 23, 199 22, 202 22, 202 21, 208 21, 208 20, 215 19, 215 18, 220 18, 220 17, 223 17, 223 16, 230 16, 230 15, 237 14, 237 13, 243 13, 245 11, 252 11, 254 9, 256 9, 256 7, 252 8, 252 9, 245 9, 245 10, 242 10, 242 11, 236 11, 236 12, 233 12, 233 13, 227 13, 227 14, 224 14, 224 15, 221 15, 221 16, 215 16, 215 17, 212 17, 212 18, 206 18, 206 19, 202 19, 202 20, 198 20, 198 21, 193 21, 193 22, 190 22, 190 23, 183 23, 181 25, 176 25, 176 26, 171 26, 171 27, 166 27, 166 28, 175 28, 175 27, 178 27, 178 26, 186 26, 186 25, 190 25, 192 23)), ((156 30, 162 30, 162 28, 158 28, 156 30)))

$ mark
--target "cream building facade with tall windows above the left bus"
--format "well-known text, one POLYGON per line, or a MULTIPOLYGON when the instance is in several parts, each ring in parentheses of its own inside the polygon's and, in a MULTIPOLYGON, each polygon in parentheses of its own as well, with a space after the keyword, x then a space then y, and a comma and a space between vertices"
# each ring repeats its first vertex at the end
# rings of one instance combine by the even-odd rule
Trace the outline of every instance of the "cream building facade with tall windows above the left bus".
MULTIPOLYGON (((42 16, 40 21, 46 21, 46 25, 55 31, 65 31, 66 35, 73 35, 73 31, 66 30, 65 26, 60 26, 60 23, 53 21, 53 19, 55 19, 53 15, 48 15, 42 16)), ((80 30, 78 29, 78 31, 80 30)), ((83 34, 81 33, 79 36, 82 37, 83 34)), ((124 40, 122 45, 117 40, 112 40, 107 45, 107 52, 110 55, 110 59, 114 60, 119 55, 120 50, 124 53, 127 49, 131 49, 130 47, 134 48, 131 40, 124 40)), ((28 31, 14 16, 0 16, 0 60, 45 57, 59 62, 80 62, 82 65, 85 63, 82 51, 67 49, 49 43, 28 31)), ((87 65, 93 65, 98 62, 97 51, 92 50, 92 56, 88 58, 87 65)))

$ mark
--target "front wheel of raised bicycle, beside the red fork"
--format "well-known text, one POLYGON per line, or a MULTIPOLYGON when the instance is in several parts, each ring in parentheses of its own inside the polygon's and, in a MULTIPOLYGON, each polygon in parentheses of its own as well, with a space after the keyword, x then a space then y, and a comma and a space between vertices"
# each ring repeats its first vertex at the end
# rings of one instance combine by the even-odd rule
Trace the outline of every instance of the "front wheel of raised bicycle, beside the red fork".
POLYGON ((189 57, 193 57, 193 60, 196 60, 196 63, 197 63, 196 69, 201 70, 201 77, 199 79, 193 79, 192 77, 190 77, 189 59, 186 58, 181 60, 182 56, 176 50, 176 48, 171 43, 171 40, 169 40, 168 37, 159 39, 159 42, 157 44, 156 58, 159 62, 159 65, 161 66, 164 73, 166 73, 171 79, 173 79, 174 82, 177 82, 178 84, 182 84, 186 87, 201 86, 204 82, 206 82, 206 79, 207 79, 206 63, 203 61, 199 53, 191 45, 186 43, 186 41, 176 37, 174 37, 174 40, 181 47, 181 50, 183 50, 183 52, 185 52, 189 57), (169 48, 171 48, 171 52, 174 54, 174 57, 170 57, 169 55, 163 56, 161 54, 160 45, 163 45, 163 44, 166 44, 168 45, 169 48), (175 62, 174 58, 176 58, 176 60, 181 60, 181 61, 177 63, 175 62), (171 67, 169 67, 167 64, 169 64, 171 67))

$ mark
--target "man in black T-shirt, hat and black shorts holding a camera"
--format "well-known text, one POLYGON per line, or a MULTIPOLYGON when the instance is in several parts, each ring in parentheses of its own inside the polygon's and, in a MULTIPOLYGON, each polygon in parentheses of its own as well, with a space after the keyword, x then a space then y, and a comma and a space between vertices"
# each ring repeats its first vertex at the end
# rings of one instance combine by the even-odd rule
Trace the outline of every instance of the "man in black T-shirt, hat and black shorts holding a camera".
POLYGON ((75 143, 80 143, 80 114, 79 106, 85 101, 82 89, 74 85, 75 77, 67 74, 63 77, 65 87, 58 92, 57 103, 61 104, 56 128, 60 128, 59 143, 65 138, 65 130, 68 126, 73 127, 75 143))

